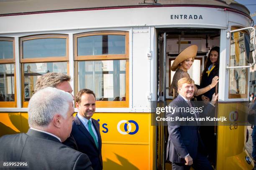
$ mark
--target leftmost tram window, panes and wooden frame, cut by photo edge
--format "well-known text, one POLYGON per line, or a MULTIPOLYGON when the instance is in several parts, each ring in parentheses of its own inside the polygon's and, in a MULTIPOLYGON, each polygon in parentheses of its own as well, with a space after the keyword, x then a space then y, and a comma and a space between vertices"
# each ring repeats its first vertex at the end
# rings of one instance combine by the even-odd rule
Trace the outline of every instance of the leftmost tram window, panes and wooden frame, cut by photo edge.
POLYGON ((14 38, 0 37, 0 107, 16 107, 14 38))

